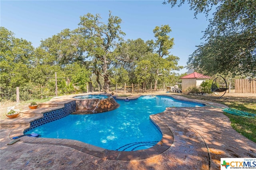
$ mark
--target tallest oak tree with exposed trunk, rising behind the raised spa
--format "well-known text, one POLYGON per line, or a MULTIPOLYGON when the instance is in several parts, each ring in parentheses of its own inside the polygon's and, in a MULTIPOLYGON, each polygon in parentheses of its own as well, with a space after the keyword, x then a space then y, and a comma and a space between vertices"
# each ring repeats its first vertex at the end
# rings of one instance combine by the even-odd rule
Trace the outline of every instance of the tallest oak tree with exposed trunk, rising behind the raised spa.
POLYGON ((111 12, 109 12, 107 24, 101 19, 99 14, 88 13, 81 16, 78 32, 86 40, 87 57, 92 58, 92 71, 97 79, 99 76, 104 78, 104 89, 109 91, 109 71, 114 60, 112 52, 116 48, 116 43, 122 41, 125 33, 121 30, 121 18, 112 16, 111 12))

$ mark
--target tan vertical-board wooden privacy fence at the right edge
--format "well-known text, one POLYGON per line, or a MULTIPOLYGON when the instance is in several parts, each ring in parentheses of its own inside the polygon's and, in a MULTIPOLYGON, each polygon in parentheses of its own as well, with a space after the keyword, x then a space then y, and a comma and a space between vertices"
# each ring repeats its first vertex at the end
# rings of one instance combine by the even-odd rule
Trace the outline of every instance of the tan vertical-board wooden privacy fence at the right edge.
POLYGON ((248 79, 235 79, 236 93, 256 93, 256 81, 248 79))

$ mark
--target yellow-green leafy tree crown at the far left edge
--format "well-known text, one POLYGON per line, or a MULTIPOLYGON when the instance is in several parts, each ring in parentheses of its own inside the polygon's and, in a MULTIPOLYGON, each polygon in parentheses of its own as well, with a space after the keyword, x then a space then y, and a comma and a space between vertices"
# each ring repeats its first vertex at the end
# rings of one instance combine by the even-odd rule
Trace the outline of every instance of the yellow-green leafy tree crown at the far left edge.
POLYGON ((18 87, 29 81, 34 47, 0 27, 0 87, 18 87))

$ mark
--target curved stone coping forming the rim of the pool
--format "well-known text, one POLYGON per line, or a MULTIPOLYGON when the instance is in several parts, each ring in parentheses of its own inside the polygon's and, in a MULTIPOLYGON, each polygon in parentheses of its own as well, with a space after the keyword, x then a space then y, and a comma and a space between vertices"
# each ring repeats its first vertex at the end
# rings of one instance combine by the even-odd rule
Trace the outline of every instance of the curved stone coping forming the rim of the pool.
MULTIPOLYGON (((224 105, 218 104, 218 103, 207 103, 205 101, 201 100, 192 100, 192 99, 187 99, 182 96, 174 96, 174 95, 163 95, 163 96, 170 96, 173 97, 174 99, 178 100, 183 100, 183 101, 191 101, 191 102, 196 102, 196 103, 202 103, 205 105, 213 105, 214 107, 226 107, 224 105)), ((128 99, 136 99, 140 96, 136 97, 128 97, 128 99)), ((68 97, 58 97, 53 99, 56 103, 66 103, 68 102, 68 98, 70 99, 70 96, 68 97)), ((121 99, 124 97, 121 97, 121 99)), ((126 97, 125 97, 126 99, 126 97)), ((74 101, 74 99, 71 99, 74 101)), ((70 100, 70 101, 71 101, 70 100)), ((43 110, 42 108, 40 108, 43 110)), ((49 110, 49 108, 46 108, 49 110)), ((52 107, 52 109, 55 109, 52 107)), ((166 108, 167 109, 167 108, 166 108)), ((34 109, 35 112, 38 113, 37 109, 34 109)), ((31 112, 33 112, 31 110, 31 112)), ((160 113, 157 113, 158 115, 160 113)), ((48 145, 59 145, 59 146, 68 146, 70 148, 74 148, 76 150, 79 150, 81 152, 96 156, 98 158, 104 158, 104 159, 110 159, 110 160, 140 160, 140 159, 145 159, 145 158, 150 158, 152 156, 156 156, 158 154, 163 153, 166 151, 168 148, 170 148, 174 142, 174 135, 170 128, 157 117, 156 115, 150 115, 150 119, 154 121, 154 123, 161 129, 162 131, 162 139, 153 147, 144 149, 144 150, 136 150, 136 151, 115 151, 115 150, 107 150, 104 148, 100 148, 97 146, 93 146, 91 144, 86 144, 84 142, 80 142, 77 140, 70 140, 70 139, 55 139, 55 138, 32 138, 28 136, 24 136, 20 138, 22 142, 29 143, 29 144, 48 144, 48 145)), ((31 121, 30 117, 30 121, 31 121)), ((28 124, 20 126, 15 128, 12 132, 9 134, 9 138, 12 140, 12 137, 14 136, 19 136, 23 134, 23 131, 28 128, 28 124)))

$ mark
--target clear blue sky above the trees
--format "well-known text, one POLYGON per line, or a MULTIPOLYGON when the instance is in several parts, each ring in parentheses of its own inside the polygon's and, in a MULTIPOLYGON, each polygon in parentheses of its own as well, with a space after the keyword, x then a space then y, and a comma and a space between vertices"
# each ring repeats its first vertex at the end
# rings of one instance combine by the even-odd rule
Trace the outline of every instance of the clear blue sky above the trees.
MULTIPOLYGON (((179 65, 186 66, 190 54, 201 40, 208 26, 204 14, 194 19, 194 11, 188 4, 171 8, 163 5, 163 0, 104 0, 104 1, 7 1, 0 2, 0 26, 14 32, 16 38, 23 38, 34 47, 40 41, 58 34, 65 28, 71 30, 78 27, 80 16, 87 13, 100 14, 106 23, 109 10, 113 16, 122 19, 121 30, 126 33, 125 40, 142 38, 154 40, 153 29, 168 24, 174 38, 171 54, 180 58, 179 65)), ((182 69, 179 73, 185 73, 182 69)))

